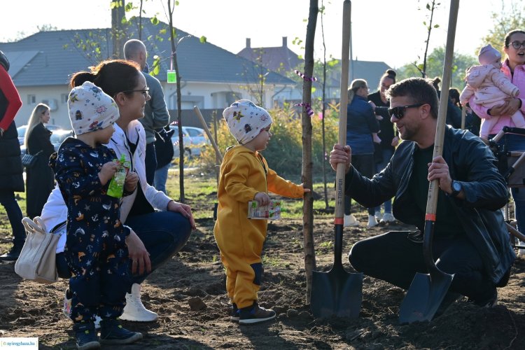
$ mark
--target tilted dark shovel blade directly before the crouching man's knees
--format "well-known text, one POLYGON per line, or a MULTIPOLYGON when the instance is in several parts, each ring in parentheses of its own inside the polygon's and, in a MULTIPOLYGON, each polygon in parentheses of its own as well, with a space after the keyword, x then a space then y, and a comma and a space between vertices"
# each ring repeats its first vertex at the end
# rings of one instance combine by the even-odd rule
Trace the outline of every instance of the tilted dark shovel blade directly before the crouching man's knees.
POLYGON ((400 323, 430 321, 449 290, 453 274, 416 273, 399 309, 400 323))

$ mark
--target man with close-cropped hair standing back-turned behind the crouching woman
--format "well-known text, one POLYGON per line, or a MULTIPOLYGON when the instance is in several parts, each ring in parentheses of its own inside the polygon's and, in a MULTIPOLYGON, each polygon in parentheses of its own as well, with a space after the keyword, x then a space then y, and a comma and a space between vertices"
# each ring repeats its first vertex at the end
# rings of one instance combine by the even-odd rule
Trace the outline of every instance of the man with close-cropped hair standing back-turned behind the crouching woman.
POLYGON ((146 78, 146 90, 141 90, 143 94, 149 94, 150 99, 146 102, 144 118, 139 121, 144 126, 146 132, 146 181, 153 186, 155 179, 155 169, 157 169, 157 155, 155 153, 155 130, 162 130, 169 124, 169 112, 164 100, 164 91, 160 81, 148 74, 148 64, 146 58, 148 52, 146 45, 137 39, 130 39, 124 44, 124 57, 130 61, 137 62, 146 78))

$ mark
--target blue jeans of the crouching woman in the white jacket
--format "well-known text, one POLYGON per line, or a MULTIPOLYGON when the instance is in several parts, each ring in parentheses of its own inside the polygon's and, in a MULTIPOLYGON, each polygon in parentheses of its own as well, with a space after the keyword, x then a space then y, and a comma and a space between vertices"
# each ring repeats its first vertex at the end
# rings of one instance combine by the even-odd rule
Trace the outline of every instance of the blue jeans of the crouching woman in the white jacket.
MULTIPOLYGON (((151 272, 166 260, 179 252, 190 238, 190 221, 173 211, 155 211, 155 213, 128 217, 125 225, 137 233, 150 253, 151 272)), ((64 253, 57 254, 57 270, 60 277, 71 276, 64 253)), ((150 272, 150 273, 151 273, 150 272)), ((149 274, 132 276, 132 283, 142 283, 149 274)))

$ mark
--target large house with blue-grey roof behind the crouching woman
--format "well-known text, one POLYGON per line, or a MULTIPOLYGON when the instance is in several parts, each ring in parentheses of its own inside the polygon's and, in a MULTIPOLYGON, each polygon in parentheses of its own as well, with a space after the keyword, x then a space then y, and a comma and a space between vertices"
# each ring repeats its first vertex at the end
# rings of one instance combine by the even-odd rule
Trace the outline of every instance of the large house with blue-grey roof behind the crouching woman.
MULTIPOLYGON (((172 47, 168 25, 153 25, 143 18, 141 38, 148 50, 148 65, 160 57, 160 72, 156 76, 165 92, 172 120, 176 119, 176 84, 167 83, 171 68, 172 47), (159 38, 162 38, 160 40, 159 38)), ((129 38, 139 38, 136 27, 127 29, 129 38)), ((181 78, 181 110, 193 113, 193 106, 202 110, 224 109, 236 99, 251 99, 263 106, 274 106, 276 92, 295 86, 285 76, 219 48, 201 43, 200 38, 176 29, 183 38, 176 47, 181 78), (260 84, 264 76, 264 84, 260 84)), ((82 29, 40 31, 19 41, 0 43, 10 60, 9 74, 22 98, 22 108, 15 123, 27 124, 36 104, 43 102, 51 108, 50 123, 70 126, 67 110, 69 79, 77 71, 87 70, 102 59, 111 57, 111 29, 82 29)), ((203 113, 204 114, 204 113, 203 113)))

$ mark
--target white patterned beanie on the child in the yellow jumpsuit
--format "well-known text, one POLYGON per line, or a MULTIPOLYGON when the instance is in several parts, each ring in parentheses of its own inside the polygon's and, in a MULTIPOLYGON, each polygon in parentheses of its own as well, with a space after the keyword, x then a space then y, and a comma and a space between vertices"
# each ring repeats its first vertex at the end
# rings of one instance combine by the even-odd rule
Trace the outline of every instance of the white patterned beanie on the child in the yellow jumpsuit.
POLYGON ((269 113, 247 99, 239 99, 223 111, 233 137, 244 145, 255 139, 262 129, 272 124, 269 113))

